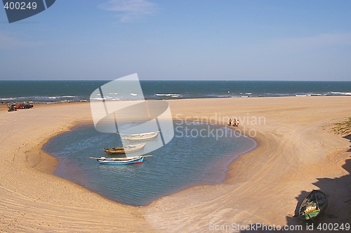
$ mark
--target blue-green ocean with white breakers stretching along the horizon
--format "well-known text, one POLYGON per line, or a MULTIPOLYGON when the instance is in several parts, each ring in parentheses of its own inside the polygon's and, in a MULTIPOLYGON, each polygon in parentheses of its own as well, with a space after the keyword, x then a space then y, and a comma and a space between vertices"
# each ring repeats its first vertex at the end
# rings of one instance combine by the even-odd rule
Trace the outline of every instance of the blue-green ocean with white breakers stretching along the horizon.
MULTIPOLYGON (((89 101, 105 81, 0 81, 0 102, 89 101)), ((351 95, 351 81, 140 81, 151 99, 351 95)))

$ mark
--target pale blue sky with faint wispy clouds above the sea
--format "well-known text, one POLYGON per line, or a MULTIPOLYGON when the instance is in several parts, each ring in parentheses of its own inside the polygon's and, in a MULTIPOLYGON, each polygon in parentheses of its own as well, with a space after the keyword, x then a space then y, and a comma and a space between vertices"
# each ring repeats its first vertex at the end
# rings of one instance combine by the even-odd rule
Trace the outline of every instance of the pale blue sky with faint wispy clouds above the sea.
POLYGON ((0 80, 351 81, 351 1, 56 0, 8 23, 0 80))

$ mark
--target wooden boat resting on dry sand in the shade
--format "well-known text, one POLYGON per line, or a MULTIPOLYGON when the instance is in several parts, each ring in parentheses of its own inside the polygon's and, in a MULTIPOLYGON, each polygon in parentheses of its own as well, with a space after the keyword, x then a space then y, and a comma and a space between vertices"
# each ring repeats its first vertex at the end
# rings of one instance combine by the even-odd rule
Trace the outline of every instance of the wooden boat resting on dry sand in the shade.
POLYGON ((303 200, 299 210, 298 218, 300 220, 310 220, 322 213, 328 206, 326 194, 319 190, 312 190, 310 194, 303 200))

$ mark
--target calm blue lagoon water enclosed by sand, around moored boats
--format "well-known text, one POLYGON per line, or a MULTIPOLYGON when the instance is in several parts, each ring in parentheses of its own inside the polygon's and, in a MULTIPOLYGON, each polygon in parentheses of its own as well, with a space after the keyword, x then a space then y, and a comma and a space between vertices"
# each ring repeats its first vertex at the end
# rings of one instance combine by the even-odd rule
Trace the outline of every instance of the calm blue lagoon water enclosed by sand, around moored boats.
POLYGON ((93 125, 56 136, 44 151, 60 161, 55 175, 113 201, 145 206, 192 185, 222 182, 230 161, 256 147, 254 140, 224 126, 173 124, 174 138, 152 152, 152 157, 145 157, 143 164, 113 166, 88 159, 106 156, 104 147, 122 145, 119 135, 100 133, 93 125))

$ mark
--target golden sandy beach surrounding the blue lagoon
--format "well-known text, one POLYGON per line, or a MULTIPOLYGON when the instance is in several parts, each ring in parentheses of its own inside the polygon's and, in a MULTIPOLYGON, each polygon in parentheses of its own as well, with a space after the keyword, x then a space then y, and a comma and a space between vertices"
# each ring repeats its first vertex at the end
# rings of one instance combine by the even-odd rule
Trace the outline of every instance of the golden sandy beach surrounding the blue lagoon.
POLYGON ((228 166, 220 185, 193 186, 149 206, 125 206, 53 175, 58 160, 41 150, 53 136, 93 123, 88 102, 34 105, 16 112, 0 105, 0 232, 239 232, 232 226, 305 227, 293 215, 312 189, 321 189, 329 198, 329 207, 314 222, 314 229, 320 222, 351 224, 350 137, 331 131, 334 123, 351 116, 351 97, 167 102, 175 120, 211 119, 226 125, 227 117, 237 117, 237 131, 258 146, 228 166))

